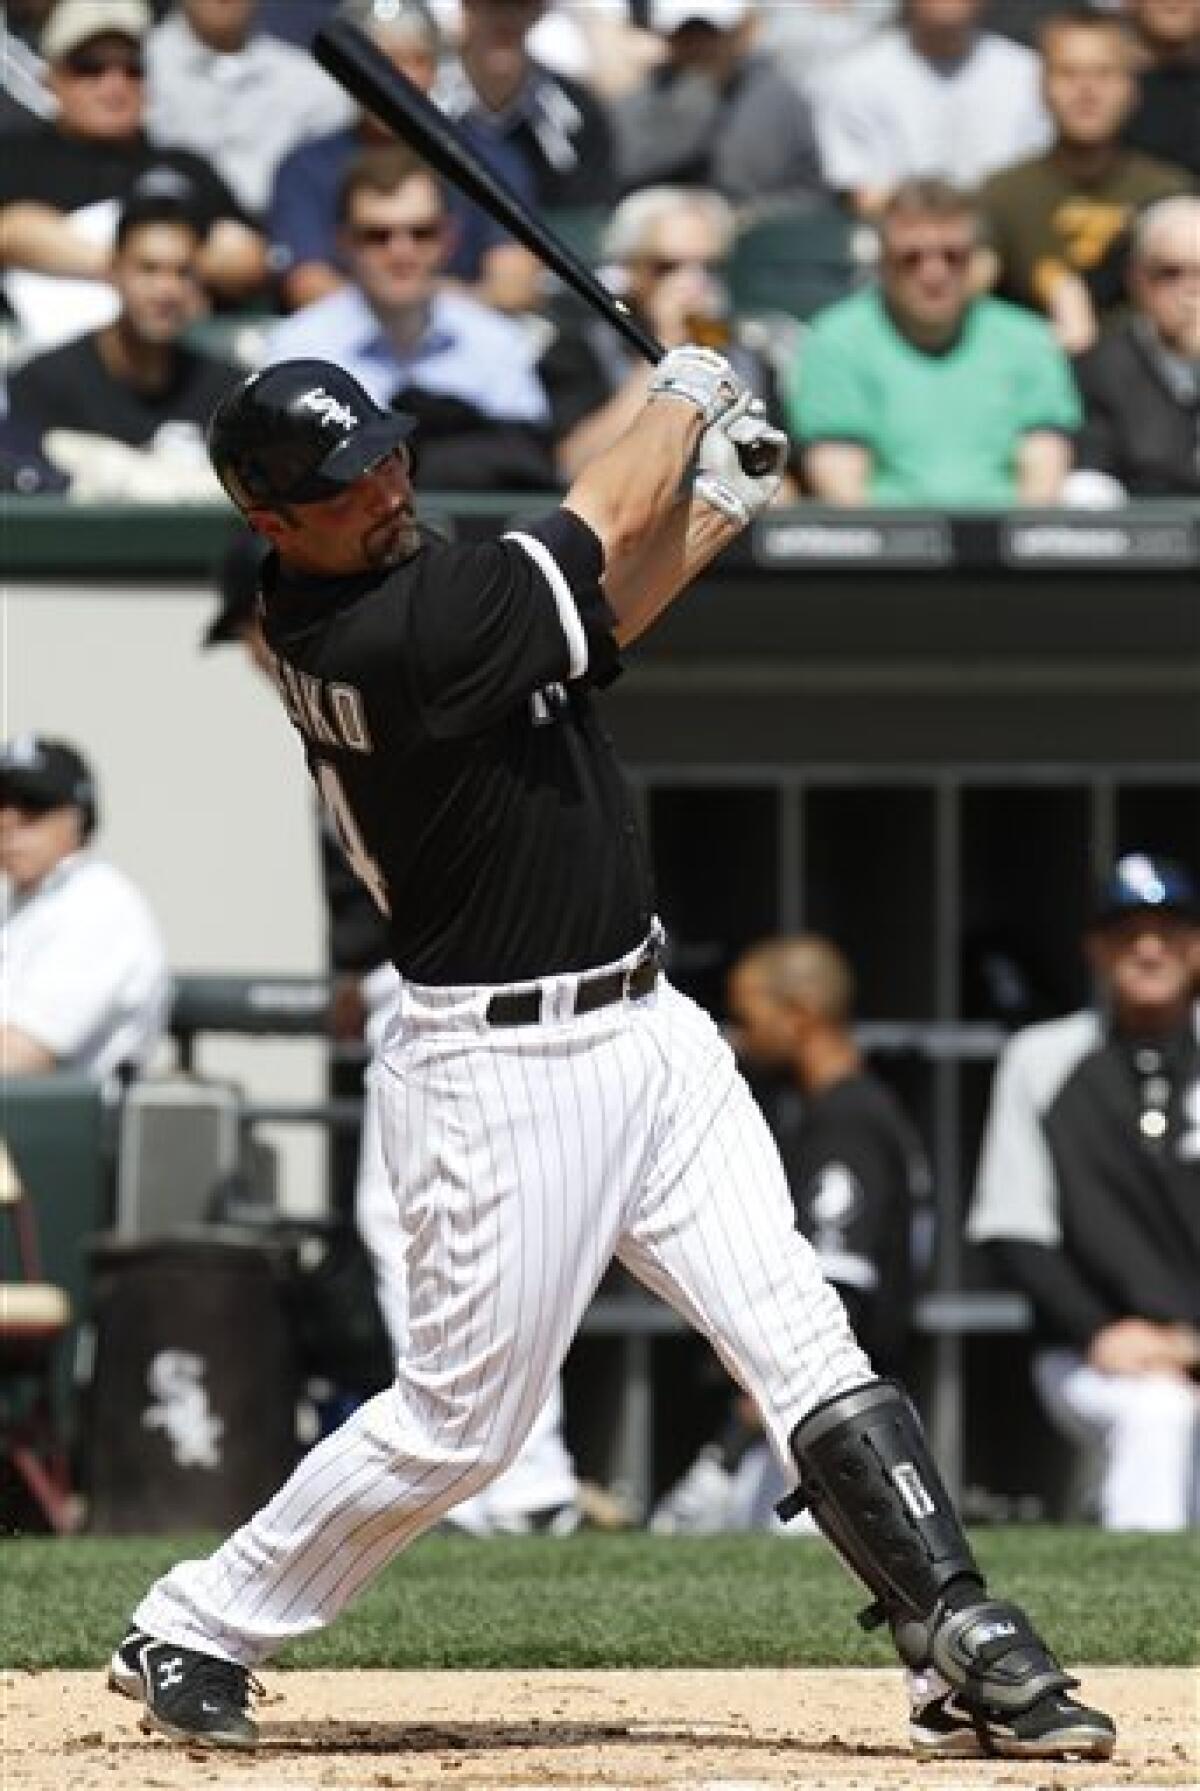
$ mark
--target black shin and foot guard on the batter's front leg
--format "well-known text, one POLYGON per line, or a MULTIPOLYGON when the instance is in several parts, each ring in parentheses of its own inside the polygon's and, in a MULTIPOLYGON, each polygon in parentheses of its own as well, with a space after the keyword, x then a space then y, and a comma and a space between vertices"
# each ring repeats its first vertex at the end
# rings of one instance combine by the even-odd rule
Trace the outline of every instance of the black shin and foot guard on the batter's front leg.
POLYGON ((801 1485, 783 1519, 811 1510, 874 1594, 860 1623, 888 1623, 901 1658, 935 1666, 985 1710, 1024 1710, 1076 1682, 1016 1605, 987 1596, 958 1513, 908 1397, 869 1381, 792 1431, 801 1485))

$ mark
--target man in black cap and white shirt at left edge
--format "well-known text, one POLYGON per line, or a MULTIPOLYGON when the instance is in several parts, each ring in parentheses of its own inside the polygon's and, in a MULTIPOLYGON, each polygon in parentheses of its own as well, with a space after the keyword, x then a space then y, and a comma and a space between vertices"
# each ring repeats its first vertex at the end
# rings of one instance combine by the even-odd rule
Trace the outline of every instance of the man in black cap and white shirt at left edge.
POLYGON ((163 1037, 163 940, 133 883, 88 849, 95 822, 75 747, 20 734, 0 749, 0 1075, 106 1080, 163 1037))

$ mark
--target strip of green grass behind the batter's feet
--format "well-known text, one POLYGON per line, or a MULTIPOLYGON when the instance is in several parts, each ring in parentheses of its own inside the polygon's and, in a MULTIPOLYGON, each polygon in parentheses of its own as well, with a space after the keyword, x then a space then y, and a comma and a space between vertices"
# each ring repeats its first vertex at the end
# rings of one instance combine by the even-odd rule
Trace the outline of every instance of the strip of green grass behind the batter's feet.
MULTIPOLYGON (((990 1581, 1066 1658, 1200 1662, 1200 1540, 1094 1530, 983 1530, 990 1581)), ((0 1542, 0 1664, 95 1667, 131 1607, 211 1538, 0 1542)), ((322 1635, 304 1667, 883 1666, 865 1603, 815 1540, 582 1535, 430 1537, 322 1635)))

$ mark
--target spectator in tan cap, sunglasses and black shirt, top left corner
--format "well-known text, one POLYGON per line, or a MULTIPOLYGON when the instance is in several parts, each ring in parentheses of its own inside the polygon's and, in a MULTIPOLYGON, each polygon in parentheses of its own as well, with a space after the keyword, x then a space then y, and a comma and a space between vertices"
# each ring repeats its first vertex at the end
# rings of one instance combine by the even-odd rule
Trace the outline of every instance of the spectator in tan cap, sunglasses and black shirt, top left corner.
POLYGON ((258 294, 267 249, 201 158, 145 134, 145 0, 59 0, 41 36, 57 113, 5 140, 0 238, 5 296, 30 347, 50 347, 116 315, 111 249, 125 201, 150 170, 188 188, 202 217, 210 301, 258 294), (50 276, 39 278, 39 276, 50 276))

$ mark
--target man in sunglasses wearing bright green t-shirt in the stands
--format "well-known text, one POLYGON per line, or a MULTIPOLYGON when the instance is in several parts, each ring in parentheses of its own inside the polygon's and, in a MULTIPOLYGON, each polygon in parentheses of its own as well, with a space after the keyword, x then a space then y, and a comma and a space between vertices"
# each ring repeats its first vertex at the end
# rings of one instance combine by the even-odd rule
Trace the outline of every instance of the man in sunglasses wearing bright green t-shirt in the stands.
POLYGON ((824 503, 1055 503, 1080 399, 1050 328, 974 290, 978 215, 944 181, 903 183, 878 285, 801 344, 788 426, 824 503))

